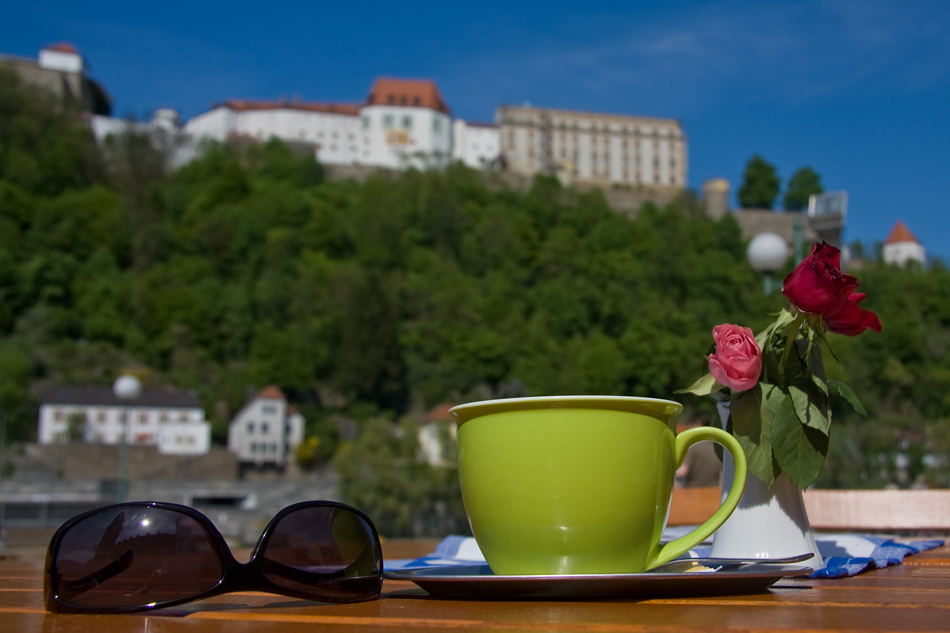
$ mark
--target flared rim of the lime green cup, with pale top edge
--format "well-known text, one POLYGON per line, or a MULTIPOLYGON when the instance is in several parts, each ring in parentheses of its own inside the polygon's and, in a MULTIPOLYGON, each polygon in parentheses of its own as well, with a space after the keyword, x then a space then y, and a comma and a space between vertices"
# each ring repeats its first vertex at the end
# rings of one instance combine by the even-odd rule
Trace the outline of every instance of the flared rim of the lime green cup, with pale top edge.
POLYGON ((530 409, 607 409, 669 417, 671 420, 682 413, 683 405, 662 398, 639 396, 528 396, 523 398, 500 398, 459 404, 449 409, 449 415, 462 424, 485 415, 530 409), (545 405, 547 407, 539 406, 545 405))

